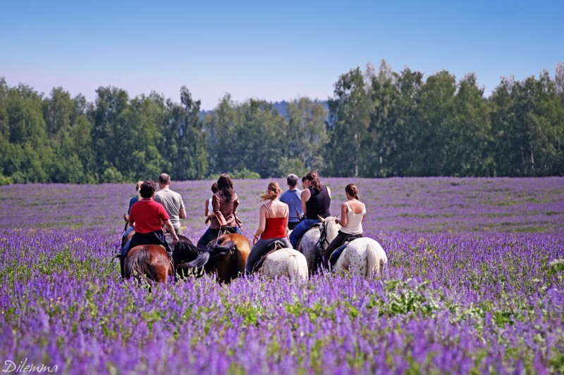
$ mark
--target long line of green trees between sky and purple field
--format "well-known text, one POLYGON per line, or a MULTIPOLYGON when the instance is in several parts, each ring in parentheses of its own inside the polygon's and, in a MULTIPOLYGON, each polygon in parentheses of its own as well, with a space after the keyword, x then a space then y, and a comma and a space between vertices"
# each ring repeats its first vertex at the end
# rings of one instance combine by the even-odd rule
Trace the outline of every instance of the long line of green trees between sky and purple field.
POLYGON ((564 63, 489 98, 477 78, 424 79, 383 61, 341 75, 324 103, 237 103, 226 94, 201 115, 180 103, 99 87, 94 102, 62 87, 49 95, 0 78, 0 184, 284 177, 548 176, 564 174, 564 63))

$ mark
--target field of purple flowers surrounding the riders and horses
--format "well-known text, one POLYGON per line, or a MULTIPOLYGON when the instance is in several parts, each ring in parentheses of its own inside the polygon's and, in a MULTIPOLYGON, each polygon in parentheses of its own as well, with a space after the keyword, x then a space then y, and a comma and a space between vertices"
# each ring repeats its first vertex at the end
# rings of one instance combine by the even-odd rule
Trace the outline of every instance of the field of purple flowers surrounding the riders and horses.
MULTIPOLYGON (((247 237, 269 181, 235 180, 247 237)), ((357 184, 364 235, 388 255, 382 277, 221 286, 206 276, 149 292, 110 262, 134 184, 0 186, 0 369, 564 372, 564 178, 322 182, 333 214, 357 184)), ((192 241, 206 229, 211 184, 171 185, 192 241)))

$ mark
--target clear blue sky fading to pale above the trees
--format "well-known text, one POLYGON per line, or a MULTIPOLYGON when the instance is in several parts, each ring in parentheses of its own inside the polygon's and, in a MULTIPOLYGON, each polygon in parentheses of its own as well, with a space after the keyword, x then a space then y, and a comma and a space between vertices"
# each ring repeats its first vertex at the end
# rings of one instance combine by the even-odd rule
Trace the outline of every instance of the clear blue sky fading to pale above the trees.
POLYGON ((385 60, 424 77, 474 72, 486 96, 501 77, 564 61, 564 1, 0 0, 0 77, 94 101, 180 87, 213 109, 233 100, 325 100, 340 75, 385 60))

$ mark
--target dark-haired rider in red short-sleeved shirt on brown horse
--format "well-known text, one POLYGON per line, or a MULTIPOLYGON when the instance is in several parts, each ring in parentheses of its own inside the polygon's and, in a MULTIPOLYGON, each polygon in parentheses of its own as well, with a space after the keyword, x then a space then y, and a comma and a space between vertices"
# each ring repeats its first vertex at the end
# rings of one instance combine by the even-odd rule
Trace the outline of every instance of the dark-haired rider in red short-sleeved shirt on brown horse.
POLYGON ((174 243, 178 242, 178 236, 174 231, 171 220, 166 213, 163 205, 153 201, 154 191, 157 189, 157 184, 150 179, 143 182, 139 189, 141 200, 135 202, 131 206, 129 213, 129 224, 135 227, 135 234, 130 239, 129 243, 123 246, 121 259, 125 260, 125 255, 130 248, 137 245, 162 245, 166 249, 166 253, 172 261, 172 250, 166 242, 166 237, 162 229, 162 225, 168 228, 168 231, 173 236, 174 243))

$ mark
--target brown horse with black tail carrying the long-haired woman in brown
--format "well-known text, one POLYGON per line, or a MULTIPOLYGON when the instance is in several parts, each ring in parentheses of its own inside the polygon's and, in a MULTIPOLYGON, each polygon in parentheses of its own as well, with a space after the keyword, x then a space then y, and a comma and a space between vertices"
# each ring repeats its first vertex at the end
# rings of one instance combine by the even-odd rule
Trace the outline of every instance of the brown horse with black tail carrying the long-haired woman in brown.
POLYGON ((226 233, 210 242, 207 251, 206 272, 216 273, 219 283, 229 283, 245 273, 251 244, 243 234, 226 233))

